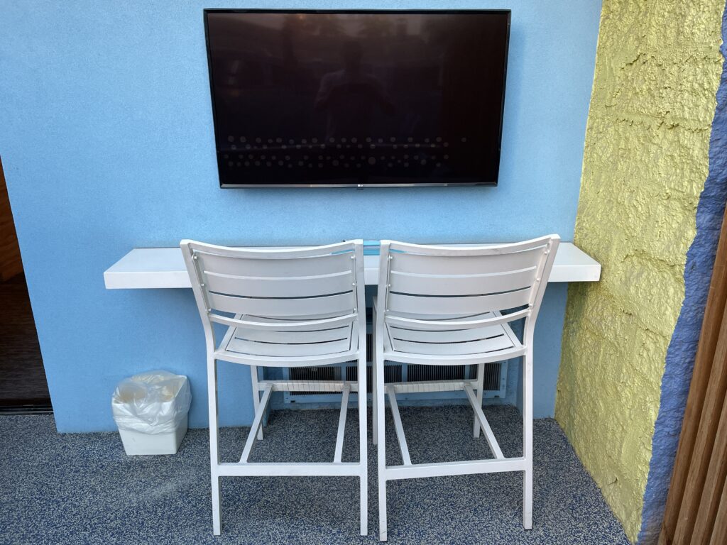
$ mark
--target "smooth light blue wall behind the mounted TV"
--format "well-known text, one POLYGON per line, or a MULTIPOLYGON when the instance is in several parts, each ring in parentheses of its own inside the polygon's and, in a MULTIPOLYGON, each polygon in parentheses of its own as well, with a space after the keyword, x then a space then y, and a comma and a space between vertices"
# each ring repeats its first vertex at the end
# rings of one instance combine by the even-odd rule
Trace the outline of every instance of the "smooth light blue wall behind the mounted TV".
MULTIPOLYGON (((190 377, 190 424, 206 425, 190 291, 103 286, 103 271, 134 246, 573 236, 599 1, 446 2, 513 9, 500 185, 364 191, 217 187, 201 11, 210 5, 1 0, 0 154, 62 432, 113 429, 115 384, 158 367, 190 377)), ((445 3, 215 7, 296 5, 445 3)), ((549 288, 539 323, 536 416, 553 415, 565 299, 549 288)), ((220 378, 222 422, 249 422, 246 368, 223 366, 220 378)))

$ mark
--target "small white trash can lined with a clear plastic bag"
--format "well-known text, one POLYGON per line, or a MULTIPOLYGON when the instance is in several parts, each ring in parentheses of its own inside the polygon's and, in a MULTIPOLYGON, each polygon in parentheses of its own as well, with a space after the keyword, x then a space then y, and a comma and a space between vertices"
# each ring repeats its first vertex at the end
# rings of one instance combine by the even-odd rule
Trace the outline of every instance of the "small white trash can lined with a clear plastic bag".
POLYGON ((186 376, 150 371, 119 382, 113 419, 129 456, 174 454, 187 433, 192 396, 186 376))

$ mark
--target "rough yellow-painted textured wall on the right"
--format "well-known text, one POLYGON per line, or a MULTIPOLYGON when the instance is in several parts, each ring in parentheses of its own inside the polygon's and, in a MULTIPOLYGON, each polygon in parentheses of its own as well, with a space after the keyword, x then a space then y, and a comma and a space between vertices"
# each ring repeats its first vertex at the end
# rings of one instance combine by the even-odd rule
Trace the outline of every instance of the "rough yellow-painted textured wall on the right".
POLYGON ((638 536, 664 359, 707 177, 724 0, 603 0, 555 417, 638 536))

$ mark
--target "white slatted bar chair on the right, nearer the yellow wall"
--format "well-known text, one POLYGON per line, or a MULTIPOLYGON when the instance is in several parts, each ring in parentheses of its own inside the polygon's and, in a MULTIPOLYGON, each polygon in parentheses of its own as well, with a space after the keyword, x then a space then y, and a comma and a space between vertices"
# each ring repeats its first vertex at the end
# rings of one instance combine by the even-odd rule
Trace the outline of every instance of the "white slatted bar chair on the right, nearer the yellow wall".
POLYGON ((389 480, 522 471, 523 527, 532 528, 533 331, 560 238, 497 246, 419 246, 381 242, 374 300, 374 444, 378 444, 379 539, 386 541, 389 480), (377 312, 378 311, 378 312, 377 312), (507 311, 507 312, 506 312, 507 311), (521 341, 508 325, 524 319, 521 341), (482 411, 484 364, 523 357, 523 456, 505 458, 482 411), (477 365, 477 379, 384 384, 386 360, 429 366, 477 365), (464 390, 493 459, 414 464, 396 394, 464 390), (387 395, 403 465, 387 466, 387 395))

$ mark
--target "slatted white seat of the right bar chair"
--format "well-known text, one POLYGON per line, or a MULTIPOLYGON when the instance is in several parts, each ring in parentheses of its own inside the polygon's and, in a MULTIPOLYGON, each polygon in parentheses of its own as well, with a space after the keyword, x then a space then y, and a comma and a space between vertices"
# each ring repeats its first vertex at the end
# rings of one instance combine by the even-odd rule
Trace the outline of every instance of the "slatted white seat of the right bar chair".
MULTIPOLYGON (((466 318, 438 318, 438 320, 484 320, 494 318, 492 312, 466 318)), ((406 357, 422 360, 483 359, 491 361, 515 358, 524 347, 507 323, 478 328, 457 328, 444 331, 425 331, 409 326, 387 323, 384 336, 384 353, 387 357, 406 357)))

